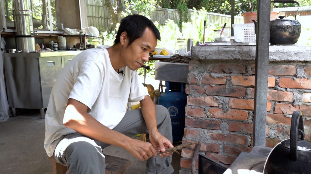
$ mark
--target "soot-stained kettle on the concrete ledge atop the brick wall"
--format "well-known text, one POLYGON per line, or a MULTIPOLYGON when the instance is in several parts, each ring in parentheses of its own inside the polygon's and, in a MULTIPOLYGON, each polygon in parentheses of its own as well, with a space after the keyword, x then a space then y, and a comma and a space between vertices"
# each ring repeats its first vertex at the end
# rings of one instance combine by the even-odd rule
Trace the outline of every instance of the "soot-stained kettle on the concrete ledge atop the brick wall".
MULTIPOLYGON (((271 2, 296 3, 298 4, 297 11, 299 10, 299 3, 293 0, 274 0, 271 2)), ((298 41, 301 33, 301 24, 296 20, 297 11, 295 12, 295 20, 284 19, 285 16, 279 16, 280 19, 270 21, 271 45, 295 44, 298 41)), ((256 31, 257 21, 253 20, 253 22, 256 31)))

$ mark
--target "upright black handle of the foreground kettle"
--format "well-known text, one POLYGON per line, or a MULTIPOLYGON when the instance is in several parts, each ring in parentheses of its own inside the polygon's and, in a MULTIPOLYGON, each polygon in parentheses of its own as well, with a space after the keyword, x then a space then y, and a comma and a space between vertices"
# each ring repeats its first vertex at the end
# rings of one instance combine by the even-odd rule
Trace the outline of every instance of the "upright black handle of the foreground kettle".
POLYGON ((297 137, 298 132, 301 137, 300 140, 304 139, 304 120, 300 111, 294 111, 290 124, 290 157, 296 161, 298 159, 297 153, 297 137))

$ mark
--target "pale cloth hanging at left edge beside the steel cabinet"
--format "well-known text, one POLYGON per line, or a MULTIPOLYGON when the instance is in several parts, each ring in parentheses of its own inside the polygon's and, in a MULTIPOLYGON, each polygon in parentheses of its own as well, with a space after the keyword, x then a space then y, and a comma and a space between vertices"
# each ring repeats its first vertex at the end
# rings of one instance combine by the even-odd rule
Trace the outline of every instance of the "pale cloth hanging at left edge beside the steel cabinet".
POLYGON ((3 50, 5 46, 4 38, 0 36, 0 122, 9 119, 9 104, 7 102, 7 93, 5 90, 3 74, 3 50))

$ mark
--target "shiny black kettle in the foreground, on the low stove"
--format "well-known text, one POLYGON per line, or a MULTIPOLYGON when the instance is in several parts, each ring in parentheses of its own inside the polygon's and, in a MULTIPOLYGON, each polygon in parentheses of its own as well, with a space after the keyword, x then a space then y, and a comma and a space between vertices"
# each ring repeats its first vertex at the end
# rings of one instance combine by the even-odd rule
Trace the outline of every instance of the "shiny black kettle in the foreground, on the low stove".
POLYGON ((304 122, 301 112, 293 112, 290 139, 281 141, 272 149, 266 160, 263 173, 311 173, 311 143, 304 141, 304 122))

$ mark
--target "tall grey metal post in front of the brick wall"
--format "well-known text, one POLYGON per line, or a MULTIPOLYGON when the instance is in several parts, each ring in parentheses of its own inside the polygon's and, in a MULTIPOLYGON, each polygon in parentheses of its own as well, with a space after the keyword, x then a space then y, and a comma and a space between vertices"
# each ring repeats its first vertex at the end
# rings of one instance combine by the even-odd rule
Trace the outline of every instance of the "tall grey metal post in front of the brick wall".
POLYGON ((267 86, 269 66, 270 6, 271 0, 257 2, 254 146, 266 144, 267 86))

